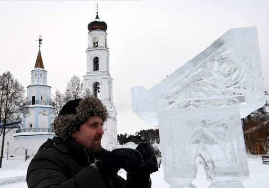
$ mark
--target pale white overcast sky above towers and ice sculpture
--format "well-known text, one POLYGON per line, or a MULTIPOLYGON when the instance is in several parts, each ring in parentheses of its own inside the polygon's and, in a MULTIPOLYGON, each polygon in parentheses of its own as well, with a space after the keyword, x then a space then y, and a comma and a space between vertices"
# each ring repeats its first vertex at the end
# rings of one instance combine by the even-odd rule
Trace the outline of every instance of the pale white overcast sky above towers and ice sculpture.
MULTIPOLYGON (((96 0, 0 1, 0 74, 10 70, 26 87, 38 36, 51 93, 86 74, 88 23, 96 0)), ((269 91, 268 0, 99 0, 108 25, 118 133, 152 128, 132 113, 131 87, 151 88, 235 27, 257 26, 265 90, 269 91)))

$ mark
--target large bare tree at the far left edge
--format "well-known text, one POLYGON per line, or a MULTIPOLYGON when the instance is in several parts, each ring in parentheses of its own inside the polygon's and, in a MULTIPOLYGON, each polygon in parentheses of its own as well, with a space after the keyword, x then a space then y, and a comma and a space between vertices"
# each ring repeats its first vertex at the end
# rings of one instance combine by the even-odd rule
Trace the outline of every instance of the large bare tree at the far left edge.
POLYGON ((25 108, 27 103, 22 84, 17 79, 14 79, 9 71, 0 75, 0 90, 0 124, 2 125, 0 128, 0 134, 2 136, 0 167, 2 167, 7 124, 21 120, 21 113, 27 111, 27 108, 25 108))

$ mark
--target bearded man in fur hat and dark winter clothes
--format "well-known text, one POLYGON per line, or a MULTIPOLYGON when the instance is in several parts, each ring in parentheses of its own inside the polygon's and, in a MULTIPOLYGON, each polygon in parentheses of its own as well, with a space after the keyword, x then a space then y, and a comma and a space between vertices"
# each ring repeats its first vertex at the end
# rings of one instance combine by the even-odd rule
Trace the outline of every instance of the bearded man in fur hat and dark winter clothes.
POLYGON ((152 145, 107 151, 101 146, 108 118, 99 99, 87 96, 69 101, 53 123, 55 134, 31 161, 28 188, 151 188, 157 159, 152 145), (117 175, 120 168, 127 179, 117 175))

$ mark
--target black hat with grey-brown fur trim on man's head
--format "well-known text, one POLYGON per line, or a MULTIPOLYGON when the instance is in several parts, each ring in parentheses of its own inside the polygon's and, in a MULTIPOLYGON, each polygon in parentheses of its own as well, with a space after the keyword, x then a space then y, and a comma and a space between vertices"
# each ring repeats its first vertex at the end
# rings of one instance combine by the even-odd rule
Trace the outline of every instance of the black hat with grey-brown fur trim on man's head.
POLYGON ((107 121, 108 111, 101 101, 88 95, 83 99, 74 99, 65 104, 52 126, 57 136, 63 140, 72 138, 72 133, 79 130, 79 126, 90 117, 99 116, 103 122, 107 121))

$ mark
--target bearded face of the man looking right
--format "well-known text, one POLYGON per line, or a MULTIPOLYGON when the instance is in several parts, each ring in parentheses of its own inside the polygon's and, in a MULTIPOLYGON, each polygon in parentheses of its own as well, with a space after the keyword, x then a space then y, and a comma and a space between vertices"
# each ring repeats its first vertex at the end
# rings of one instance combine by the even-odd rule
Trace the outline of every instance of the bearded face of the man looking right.
POLYGON ((102 128, 102 118, 99 116, 90 117, 84 124, 80 125, 79 130, 72 133, 74 141, 85 146, 90 152, 101 150, 101 139, 104 134, 102 128))

